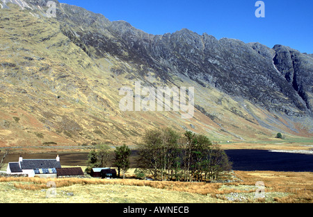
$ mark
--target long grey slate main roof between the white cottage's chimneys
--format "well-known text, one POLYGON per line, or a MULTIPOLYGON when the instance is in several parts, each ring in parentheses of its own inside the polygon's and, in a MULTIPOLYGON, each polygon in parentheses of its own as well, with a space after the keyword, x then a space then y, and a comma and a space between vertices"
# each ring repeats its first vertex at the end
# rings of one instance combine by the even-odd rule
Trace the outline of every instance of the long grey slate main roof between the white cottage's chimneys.
POLYGON ((61 168, 60 162, 56 161, 56 159, 23 159, 20 163, 23 170, 35 168, 61 168))

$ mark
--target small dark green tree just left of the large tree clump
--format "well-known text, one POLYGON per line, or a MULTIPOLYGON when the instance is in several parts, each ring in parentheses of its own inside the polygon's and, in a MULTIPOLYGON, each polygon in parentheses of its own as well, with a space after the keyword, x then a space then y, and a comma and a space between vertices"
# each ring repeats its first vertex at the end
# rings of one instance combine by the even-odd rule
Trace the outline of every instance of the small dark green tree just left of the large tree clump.
POLYGON ((122 169, 124 179, 125 173, 129 169, 129 156, 131 154, 131 150, 124 144, 123 146, 115 148, 114 153, 114 165, 118 168, 118 177, 120 177, 120 170, 122 169))

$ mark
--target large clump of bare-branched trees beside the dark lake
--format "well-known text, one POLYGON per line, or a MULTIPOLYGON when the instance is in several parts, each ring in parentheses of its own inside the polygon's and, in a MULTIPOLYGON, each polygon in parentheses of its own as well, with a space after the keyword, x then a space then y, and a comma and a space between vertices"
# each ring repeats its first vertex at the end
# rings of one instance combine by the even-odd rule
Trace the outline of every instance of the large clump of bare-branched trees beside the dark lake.
POLYGON ((207 181, 218 179, 232 164, 216 144, 201 134, 180 135, 170 128, 149 130, 139 148, 138 166, 154 180, 207 181))

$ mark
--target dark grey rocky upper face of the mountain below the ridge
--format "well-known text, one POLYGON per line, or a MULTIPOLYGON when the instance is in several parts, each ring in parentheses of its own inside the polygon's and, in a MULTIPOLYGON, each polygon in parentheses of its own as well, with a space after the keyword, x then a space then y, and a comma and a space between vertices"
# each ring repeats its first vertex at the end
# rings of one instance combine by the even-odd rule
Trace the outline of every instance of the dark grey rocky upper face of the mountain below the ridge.
MULTIPOLYGON (((313 67, 309 55, 280 45, 269 49, 259 43, 216 40, 206 33, 198 35, 187 29, 150 35, 125 21, 110 22, 103 16, 91 17, 92 13, 81 12, 81 8, 63 8, 75 26, 88 28, 93 23, 99 30, 77 33, 82 44, 96 49, 95 58, 111 53, 121 60, 151 67, 164 81, 170 80, 168 72, 184 75, 230 96, 247 98, 268 110, 295 116, 312 114, 313 67), (291 112, 288 106, 299 112, 291 112)), ((59 21, 63 20, 61 16, 59 21)))

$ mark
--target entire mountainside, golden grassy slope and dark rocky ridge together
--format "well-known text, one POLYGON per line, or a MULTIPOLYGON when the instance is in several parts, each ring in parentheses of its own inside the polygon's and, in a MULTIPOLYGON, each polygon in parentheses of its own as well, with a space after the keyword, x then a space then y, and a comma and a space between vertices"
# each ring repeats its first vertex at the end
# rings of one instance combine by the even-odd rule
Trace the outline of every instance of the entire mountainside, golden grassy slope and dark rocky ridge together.
POLYGON ((38 146, 136 144, 166 125, 217 140, 312 135, 312 55, 187 29, 150 35, 55 2, 56 18, 47 0, 1 4, 1 146, 29 145, 30 134, 38 146), (118 90, 136 80, 195 87, 194 118, 121 112, 118 90))

